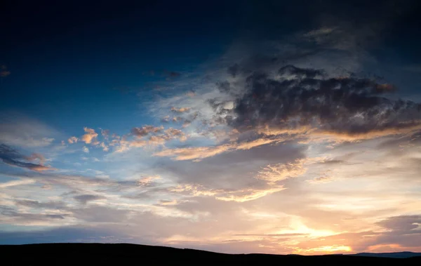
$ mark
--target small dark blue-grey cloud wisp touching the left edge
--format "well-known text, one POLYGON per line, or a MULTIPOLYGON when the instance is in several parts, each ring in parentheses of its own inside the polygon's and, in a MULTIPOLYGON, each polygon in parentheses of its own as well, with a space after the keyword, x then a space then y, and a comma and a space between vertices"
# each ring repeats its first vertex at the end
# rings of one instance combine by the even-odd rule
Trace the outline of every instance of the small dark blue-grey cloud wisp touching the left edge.
POLYGON ((44 157, 42 157, 41 154, 32 154, 32 156, 27 157, 5 144, 0 144, 0 159, 4 164, 8 164, 9 166, 26 168, 32 171, 53 170, 50 166, 44 166, 42 164, 44 162, 44 157), (28 162, 33 161, 34 159, 39 159, 40 164, 32 164, 28 162))

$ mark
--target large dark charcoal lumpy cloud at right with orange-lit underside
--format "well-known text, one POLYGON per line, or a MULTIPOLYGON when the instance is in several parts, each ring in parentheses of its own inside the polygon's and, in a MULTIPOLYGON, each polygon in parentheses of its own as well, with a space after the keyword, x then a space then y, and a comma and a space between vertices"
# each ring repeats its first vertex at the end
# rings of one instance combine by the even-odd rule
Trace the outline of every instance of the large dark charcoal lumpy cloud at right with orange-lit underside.
MULTIPOLYGON (((237 129, 311 126, 345 135, 399 131, 421 126, 421 105, 391 100, 395 88, 354 76, 325 78, 321 69, 287 65, 277 75, 253 72, 245 77, 235 107, 225 122, 237 129)), ((227 91, 227 81, 220 84, 227 91)), ((211 102, 215 110, 224 103, 211 102)))

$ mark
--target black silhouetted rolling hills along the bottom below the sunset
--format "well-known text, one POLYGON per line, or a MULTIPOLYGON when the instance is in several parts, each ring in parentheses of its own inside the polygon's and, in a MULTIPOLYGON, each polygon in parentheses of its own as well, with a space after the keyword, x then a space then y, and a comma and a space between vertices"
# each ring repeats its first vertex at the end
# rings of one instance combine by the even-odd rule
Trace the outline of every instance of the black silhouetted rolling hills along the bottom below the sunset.
POLYGON ((360 255, 230 255, 134 244, 0 246, 2 265, 421 265, 421 257, 360 255))

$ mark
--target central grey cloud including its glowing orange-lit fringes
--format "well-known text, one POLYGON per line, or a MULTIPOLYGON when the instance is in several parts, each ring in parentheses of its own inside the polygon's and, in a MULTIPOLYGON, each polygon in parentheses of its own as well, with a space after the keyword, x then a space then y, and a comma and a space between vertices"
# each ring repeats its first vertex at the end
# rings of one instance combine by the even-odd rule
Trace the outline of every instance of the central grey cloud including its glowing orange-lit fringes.
POLYGON ((169 188, 169 191, 187 194, 190 197, 214 197, 220 201, 253 201, 282 191, 285 187, 280 183, 281 181, 303 175, 307 170, 305 166, 316 161, 314 159, 297 159, 288 162, 288 159, 300 157, 299 148, 288 147, 288 145, 283 147, 262 145, 260 149, 248 149, 248 147, 235 149, 236 146, 233 146, 231 154, 223 154, 229 145, 217 147, 219 149, 215 150, 195 149, 194 147, 176 149, 175 161, 195 159, 198 162, 197 166, 188 164, 188 171, 177 170, 187 167, 187 163, 178 165, 180 162, 177 162, 168 166, 168 170, 179 176, 178 182, 182 183, 182 185, 169 188), (277 152, 271 149, 276 149, 277 152), (215 156, 217 154, 220 155, 215 156), (246 154, 249 154, 250 158, 246 154), (259 157, 259 154, 265 154, 266 157, 259 157), (276 157, 267 160, 273 155, 276 157), (206 161, 198 159, 203 157, 209 157, 209 159, 206 161), (261 171, 256 171, 259 165, 267 164, 268 161, 277 161, 278 164, 269 164, 261 171), (203 185, 206 183, 208 185, 203 185), (221 188, 221 184, 224 184, 222 186, 224 188, 221 188))

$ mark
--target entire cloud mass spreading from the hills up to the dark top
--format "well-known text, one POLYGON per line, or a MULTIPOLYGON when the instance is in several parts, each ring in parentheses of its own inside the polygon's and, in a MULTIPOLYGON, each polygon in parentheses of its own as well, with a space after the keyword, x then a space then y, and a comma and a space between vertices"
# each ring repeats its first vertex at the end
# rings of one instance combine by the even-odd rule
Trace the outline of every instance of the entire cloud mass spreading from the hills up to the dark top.
MULTIPOLYGON (((320 9, 328 13, 329 4, 320 9)), ((277 8, 282 5, 272 9, 288 13, 288 7, 277 8)), ((260 6, 267 5, 254 5, 251 13, 255 15, 260 6)), ((309 5, 294 6, 300 15, 276 14, 274 20, 285 24, 288 18, 309 18, 313 12, 309 5)), ((375 10, 377 18, 381 5, 373 6, 370 12, 375 10)), ((14 225, 18 231, 0 233, 2 243, 97 242, 128 236, 131 239, 121 241, 231 253, 350 252, 388 245, 396 250, 420 249, 415 228, 419 219, 399 217, 419 210, 420 152, 413 140, 413 132, 420 130, 416 104, 400 104, 392 94, 396 88, 385 81, 349 74, 365 70, 361 62, 370 59, 364 47, 367 41, 359 37, 364 33, 348 30, 335 19, 326 22, 330 18, 324 14, 316 19, 320 27, 288 34, 282 39, 288 43, 274 40, 248 46, 240 40, 241 47, 232 46, 210 66, 156 84, 172 88, 154 91, 157 98, 148 97, 153 99, 149 111, 156 116, 152 120, 163 118, 165 127, 134 128, 121 136, 101 129, 93 137, 93 129, 85 131, 92 137, 90 143, 83 141, 89 149, 133 148, 114 154, 116 161, 107 154, 105 164, 93 164, 107 173, 66 167, 79 158, 77 154, 48 153, 48 140, 43 138, 67 140, 69 135, 57 138, 48 131, 34 135, 36 127, 7 131, 8 140, 2 141, 6 145, 18 146, 11 141, 24 142, 20 140, 33 145, 36 140, 37 147, 44 147, 37 152, 65 168, 16 173, 1 167, 1 175, 21 178, 0 184, 0 205, 7 206, 1 210, 8 213, 2 215, 2 226, 14 225), (290 44, 294 41, 300 45, 290 44), (267 53, 261 55, 262 51, 267 53), (365 87, 359 85, 364 80, 365 87), (189 112, 182 109, 186 107, 189 112), (383 136, 388 138, 373 140, 383 136), (320 145, 324 140, 335 142, 320 145), (345 157, 351 152, 356 155, 345 157), (311 161, 317 154, 323 159, 311 161), (86 176, 81 174, 85 171, 86 176), (331 176, 340 182, 309 185, 333 180, 331 176), (68 205, 60 207, 61 201, 68 205), (75 223, 80 228, 59 227, 75 223), (38 228, 34 226, 44 231, 28 232, 38 228)), ((263 17, 271 19, 266 13, 263 17)), ((359 18, 372 20, 373 14, 359 18)), ((300 27, 290 25, 288 32, 300 27)), ((3 131, 0 128, 0 138, 3 131)), ((30 152, 14 160, 44 164, 43 157, 30 152)))

